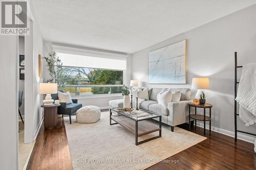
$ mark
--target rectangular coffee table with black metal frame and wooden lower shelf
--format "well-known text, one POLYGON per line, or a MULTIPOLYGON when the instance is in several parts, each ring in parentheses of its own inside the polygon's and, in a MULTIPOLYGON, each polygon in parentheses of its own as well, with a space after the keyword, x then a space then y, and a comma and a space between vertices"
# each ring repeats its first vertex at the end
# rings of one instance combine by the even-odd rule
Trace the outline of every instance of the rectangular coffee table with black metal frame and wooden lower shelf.
POLYGON ((127 130, 131 131, 135 134, 135 144, 145 143, 147 141, 156 139, 161 137, 162 133, 162 116, 157 114, 148 113, 149 115, 143 117, 135 117, 130 112, 123 112, 117 110, 118 108, 110 108, 110 125, 119 124, 126 128, 127 130), (119 113, 119 116, 112 115, 112 112, 119 113), (154 124, 151 121, 153 118, 159 118, 159 126, 154 124), (111 120, 114 120, 116 123, 112 123, 111 120), (145 140, 138 141, 138 136, 143 136, 149 133, 159 131, 159 135, 155 137, 151 137, 145 140))

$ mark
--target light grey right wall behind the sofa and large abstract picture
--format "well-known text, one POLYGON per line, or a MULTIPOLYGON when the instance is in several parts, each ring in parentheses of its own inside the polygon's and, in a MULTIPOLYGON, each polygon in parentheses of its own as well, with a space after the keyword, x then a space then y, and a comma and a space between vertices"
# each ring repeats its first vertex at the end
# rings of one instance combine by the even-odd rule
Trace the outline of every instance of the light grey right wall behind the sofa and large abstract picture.
MULTIPOLYGON (((148 87, 190 87, 193 77, 209 77, 210 90, 205 90, 212 109, 212 126, 234 131, 234 52, 238 64, 256 62, 256 5, 230 14, 204 26, 159 42, 132 54, 132 79, 148 87), (187 84, 147 84, 148 52, 187 39, 187 84)), ((160 33, 159 33, 160 34, 160 33)), ((193 91, 192 98, 195 97, 193 91)), ((198 95, 197 95, 198 97, 198 95)), ((255 127, 245 128, 238 118, 238 127, 255 133, 255 127)), ((241 137, 241 135, 240 135, 241 137)), ((250 138, 250 141, 253 141, 250 138)))

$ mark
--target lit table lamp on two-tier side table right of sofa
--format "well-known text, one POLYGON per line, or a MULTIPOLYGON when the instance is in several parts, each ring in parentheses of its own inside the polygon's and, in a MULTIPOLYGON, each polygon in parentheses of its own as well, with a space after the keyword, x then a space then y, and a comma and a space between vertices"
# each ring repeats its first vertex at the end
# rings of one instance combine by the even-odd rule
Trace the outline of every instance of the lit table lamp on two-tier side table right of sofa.
MULTIPOLYGON (((207 77, 200 77, 200 78, 193 78, 191 88, 194 89, 209 89, 209 78, 207 77)), ((201 105, 205 104, 205 93, 204 91, 200 94, 199 103, 201 105)))

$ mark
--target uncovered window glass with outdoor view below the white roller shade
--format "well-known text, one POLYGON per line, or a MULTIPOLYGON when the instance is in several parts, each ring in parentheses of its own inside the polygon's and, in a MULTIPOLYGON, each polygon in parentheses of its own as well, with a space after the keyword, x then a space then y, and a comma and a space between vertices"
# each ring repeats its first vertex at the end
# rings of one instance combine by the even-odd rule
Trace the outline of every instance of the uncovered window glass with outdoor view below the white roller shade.
POLYGON ((84 67, 63 66, 65 86, 59 90, 69 91, 71 95, 121 93, 123 71, 84 67))

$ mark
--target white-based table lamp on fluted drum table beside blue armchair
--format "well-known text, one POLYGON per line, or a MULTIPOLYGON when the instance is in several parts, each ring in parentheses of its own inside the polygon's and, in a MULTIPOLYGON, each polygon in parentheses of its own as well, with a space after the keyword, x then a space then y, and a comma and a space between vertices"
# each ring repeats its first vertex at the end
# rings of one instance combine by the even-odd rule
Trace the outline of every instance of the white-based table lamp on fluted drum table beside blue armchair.
POLYGON ((53 105, 51 94, 57 93, 57 83, 40 83, 39 85, 40 94, 46 94, 46 99, 42 101, 45 106, 53 105))

